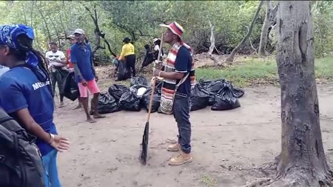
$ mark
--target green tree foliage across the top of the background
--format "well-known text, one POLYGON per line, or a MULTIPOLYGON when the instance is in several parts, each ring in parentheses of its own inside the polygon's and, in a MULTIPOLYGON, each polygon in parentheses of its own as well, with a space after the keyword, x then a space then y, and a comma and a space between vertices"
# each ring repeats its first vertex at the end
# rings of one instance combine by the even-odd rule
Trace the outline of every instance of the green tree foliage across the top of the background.
MULTIPOLYGON (((185 28, 183 38, 196 51, 209 48, 211 21, 215 25, 216 47, 222 51, 237 46, 246 35, 246 26, 258 4, 259 1, 0 1, 0 24, 32 26, 35 46, 42 51, 46 51, 50 40, 60 43, 64 51, 69 47, 65 35, 76 28, 83 28, 89 42, 95 45, 95 26, 84 6, 94 12, 96 5, 99 27, 117 54, 123 37, 131 37, 136 53, 141 54, 145 44, 160 37, 163 28, 159 24, 171 21, 178 21, 185 28)), ((317 56, 330 55, 333 51, 332 10, 332 1, 312 3, 317 56)), ((259 43, 264 14, 263 7, 251 35, 255 46, 259 43)), ((247 42, 244 48, 250 48, 248 45, 247 42)), ((108 50, 96 54, 110 55, 108 50)))

